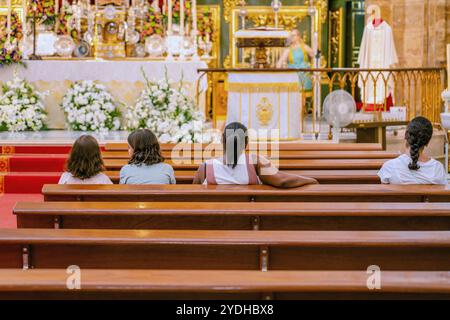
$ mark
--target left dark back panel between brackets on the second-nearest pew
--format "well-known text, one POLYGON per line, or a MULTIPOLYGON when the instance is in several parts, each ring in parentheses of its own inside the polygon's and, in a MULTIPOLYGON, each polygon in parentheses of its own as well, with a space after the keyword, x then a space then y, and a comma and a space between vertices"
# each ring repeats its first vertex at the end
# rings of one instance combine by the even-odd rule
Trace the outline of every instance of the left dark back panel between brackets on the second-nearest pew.
POLYGON ((33 245, 34 268, 257 270, 257 246, 33 245))

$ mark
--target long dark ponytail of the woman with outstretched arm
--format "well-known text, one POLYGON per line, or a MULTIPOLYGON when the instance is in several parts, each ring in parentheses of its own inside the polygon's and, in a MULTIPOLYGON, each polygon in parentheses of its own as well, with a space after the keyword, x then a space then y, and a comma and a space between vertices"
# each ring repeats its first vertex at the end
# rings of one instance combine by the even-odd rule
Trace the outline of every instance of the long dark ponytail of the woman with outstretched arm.
POLYGON ((239 122, 232 122, 225 127, 222 135, 226 165, 236 168, 242 152, 248 144, 247 127, 239 122))

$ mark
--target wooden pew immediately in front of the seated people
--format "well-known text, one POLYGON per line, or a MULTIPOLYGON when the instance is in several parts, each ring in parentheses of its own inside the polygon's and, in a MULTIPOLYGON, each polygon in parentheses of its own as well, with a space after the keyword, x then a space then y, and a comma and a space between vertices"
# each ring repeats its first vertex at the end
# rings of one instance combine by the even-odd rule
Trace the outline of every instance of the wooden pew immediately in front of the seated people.
MULTIPOLYGON (((289 173, 311 177, 321 184, 378 184, 378 170, 289 170, 289 173)), ((177 184, 192 184, 195 170, 175 171, 177 184)), ((106 171, 105 174, 119 183, 119 171, 106 171)))

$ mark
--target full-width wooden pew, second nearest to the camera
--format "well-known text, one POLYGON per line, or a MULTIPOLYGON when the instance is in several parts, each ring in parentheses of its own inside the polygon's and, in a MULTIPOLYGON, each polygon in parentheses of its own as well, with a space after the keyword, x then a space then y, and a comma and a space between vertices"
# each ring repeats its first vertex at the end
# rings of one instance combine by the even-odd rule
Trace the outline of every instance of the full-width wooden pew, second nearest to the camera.
POLYGON ((0 268, 450 270, 450 231, 0 230, 0 268))

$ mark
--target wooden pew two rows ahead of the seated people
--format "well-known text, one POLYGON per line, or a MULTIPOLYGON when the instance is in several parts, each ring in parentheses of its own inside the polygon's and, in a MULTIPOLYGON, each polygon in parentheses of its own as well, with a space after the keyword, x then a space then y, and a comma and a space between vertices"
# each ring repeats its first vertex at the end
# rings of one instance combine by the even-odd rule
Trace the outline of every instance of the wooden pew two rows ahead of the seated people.
MULTIPOLYGON (((281 170, 378 170, 389 159, 282 159, 281 170)), ((126 159, 105 159, 109 171, 120 170, 128 163, 126 159)), ((178 159, 166 161, 174 170, 197 170, 202 161, 178 159)))

